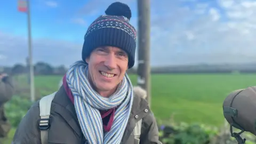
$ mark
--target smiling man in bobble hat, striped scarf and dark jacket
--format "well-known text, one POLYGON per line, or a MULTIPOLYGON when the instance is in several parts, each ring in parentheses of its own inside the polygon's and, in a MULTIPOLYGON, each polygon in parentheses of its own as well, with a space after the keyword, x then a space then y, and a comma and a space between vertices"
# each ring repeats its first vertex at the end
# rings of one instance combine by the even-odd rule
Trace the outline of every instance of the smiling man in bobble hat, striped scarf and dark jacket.
MULTIPOLYGON (((145 99, 135 96, 126 74, 134 65, 137 34, 130 7, 113 3, 84 37, 82 60, 62 79, 51 106, 48 143, 160 143, 145 99), (135 123, 142 119, 140 138, 135 123)), ((38 102, 22 119, 13 143, 41 143, 38 102)))

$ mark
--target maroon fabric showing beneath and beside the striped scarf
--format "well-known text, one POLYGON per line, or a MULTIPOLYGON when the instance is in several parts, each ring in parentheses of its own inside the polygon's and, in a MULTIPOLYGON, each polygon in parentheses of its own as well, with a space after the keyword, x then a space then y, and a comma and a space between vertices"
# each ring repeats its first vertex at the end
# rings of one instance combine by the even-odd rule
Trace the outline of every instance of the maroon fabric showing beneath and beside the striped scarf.
MULTIPOLYGON (((62 83, 63 83, 65 91, 68 95, 68 98, 74 104, 74 97, 73 97, 73 94, 72 94, 71 90, 68 87, 67 80, 66 80, 66 75, 62 78, 62 83)), ((113 121, 114 121, 115 108, 105 110, 105 111, 100 111, 100 115, 101 115, 101 118, 102 118, 103 128, 106 132, 108 132, 111 129, 111 126, 112 126, 113 121)))

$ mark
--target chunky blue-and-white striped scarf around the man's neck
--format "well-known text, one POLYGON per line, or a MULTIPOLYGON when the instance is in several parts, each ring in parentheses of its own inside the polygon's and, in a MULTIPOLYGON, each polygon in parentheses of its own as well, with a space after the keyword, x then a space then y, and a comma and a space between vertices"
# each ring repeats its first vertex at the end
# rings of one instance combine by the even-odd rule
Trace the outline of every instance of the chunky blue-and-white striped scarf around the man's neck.
POLYGON ((120 143, 127 125, 133 101, 133 88, 127 74, 111 97, 101 97, 88 80, 88 67, 77 61, 67 71, 67 83, 74 95, 79 124, 89 143, 120 143), (103 132, 99 110, 117 107, 109 132, 103 132))

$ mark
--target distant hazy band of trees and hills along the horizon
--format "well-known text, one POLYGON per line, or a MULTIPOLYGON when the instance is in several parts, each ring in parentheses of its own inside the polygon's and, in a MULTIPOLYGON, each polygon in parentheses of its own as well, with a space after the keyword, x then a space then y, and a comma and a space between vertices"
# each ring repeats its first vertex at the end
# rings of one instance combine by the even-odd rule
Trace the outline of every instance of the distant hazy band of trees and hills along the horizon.
MULTIPOLYGON (((12 67, 2 67, 0 72, 11 75, 28 74, 29 67, 17 63, 12 67)), ((35 75, 64 75, 67 68, 64 65, 54 67, 46 62, 37 62, 34 65, 35 75)), ((136 68, 127 70, 129 74, 137 74, 136 68)), ((233 65, 187 65, 187 66, 169 66, 169 67, 152 67, 152 74, 200 74, 200 73, 256 73, 256 63, 244 63, 233 65)))

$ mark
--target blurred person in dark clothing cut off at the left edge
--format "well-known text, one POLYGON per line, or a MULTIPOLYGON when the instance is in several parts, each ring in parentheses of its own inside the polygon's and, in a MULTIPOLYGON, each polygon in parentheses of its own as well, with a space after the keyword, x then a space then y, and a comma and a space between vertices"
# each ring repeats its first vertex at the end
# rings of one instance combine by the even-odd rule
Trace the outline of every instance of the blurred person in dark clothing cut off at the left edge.
POLYGON ((11 77, 0 73, 0 138, 5 138, 11 129, 11 124, 5 116, 4 104, 11 100, 13 91, 11 77))

